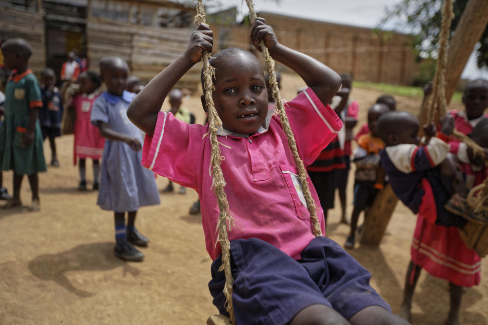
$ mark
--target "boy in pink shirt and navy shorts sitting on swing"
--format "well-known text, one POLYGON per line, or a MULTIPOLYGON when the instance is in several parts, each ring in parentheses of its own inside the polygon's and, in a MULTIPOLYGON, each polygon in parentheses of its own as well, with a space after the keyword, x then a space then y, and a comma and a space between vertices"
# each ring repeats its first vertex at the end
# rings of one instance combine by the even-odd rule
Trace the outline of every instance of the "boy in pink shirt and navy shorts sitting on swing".
MULTIPOLYGON (((258 18, 254 46, 265 45, 309 88, 286 104, 298 152, 311 164, 342 127, 329 103, 341 85, 339 75, 308 55, 280 44, 258 18), (307 131, 307 132, 304 132, 307 131)), ((204 51, 212 32, 201 24, 184 53, 151 80, 131 103, 132 122, 146 133, 142 163, 172 181, 198 191, 206 248, 212 263, 209 288, 225 310, 224 273, 217 240, 219 207, 211 191, 208 127, 189 125, 160 112, 174 84, 204 51), (203 139, 202 139, 203 138, 203 139)), ((236 220, 229 231, 233 305, 238 324, 405 324, 369 285, 371 274, 340 245, 314 237, 310 213, 279 118, 268 110, 263 67, 250 52, 225 49, 210 59, 216 70, 213 99, 222 119, 218 130, 225 160, 225 191, 236 220)), ((203 102, 203 96, 202 96, 203 102)), ((203 103, 204 104, 204 103, 203 103)), ((205 105, 203 105, 205 107, 205 105)), ((318 203, 312 186, 312 196, 318 203)), ((317 213, 324 232, 323 212, 317 213)))

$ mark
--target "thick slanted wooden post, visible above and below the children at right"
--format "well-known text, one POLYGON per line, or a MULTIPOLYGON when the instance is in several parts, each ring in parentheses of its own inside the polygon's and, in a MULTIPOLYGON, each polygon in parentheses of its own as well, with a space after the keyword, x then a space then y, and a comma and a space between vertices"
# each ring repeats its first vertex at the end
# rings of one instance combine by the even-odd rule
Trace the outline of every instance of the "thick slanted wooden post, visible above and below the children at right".
MULTIPOLYGON (((486 0, 470 0, 466 6, 461 20, 456 27, 454 36, 450 42, 449 50, 447 51, 447 70, 446 70, 446 99, 449 102, 454 90, 459 82, 461 73, 468 62, 468 58, 474 49, 475 44, 479 41, 483 30, 488 22, 488 6, 486 0)), ((425 124, 427 117, 425 112, 419 115, 420 125, 425 124)), ((389 187, 389 185, 387 186, 389 187)), ((387 189, 383 189, 385 191, 387 189)), ((381 194, 381 192, 380 192, 381 194)), ((389 204, 383 204, 380 201, 392 202, 396 200, 393 191, 385 192, 380 196, 378 194, 373 206, 370 209, 367 224, 363 227, 363 237, 361 243, 374 243, 378 245, 383 237, 383 232, 379 234, 380 229, 386 229, 393 209, 389 204), (378 222, 379 225, 373 224, 378 222), (384 226, 383 226, 384 225, 384 226), (378 238, 370 239, 368 233, 372 232, 378 238)))

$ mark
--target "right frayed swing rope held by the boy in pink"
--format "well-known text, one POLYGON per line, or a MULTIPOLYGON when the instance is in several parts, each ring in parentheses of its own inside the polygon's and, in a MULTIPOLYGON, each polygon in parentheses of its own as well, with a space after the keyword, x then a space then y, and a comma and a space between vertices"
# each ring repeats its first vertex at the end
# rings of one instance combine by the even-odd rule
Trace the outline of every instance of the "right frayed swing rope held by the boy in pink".
MULTIPOLYGON (((249 19, 251 20, 251 24, 253 24, 257 18, 256 11, 254 10, 254 4, 252 0, 246 0, 246 3, 249 7, 249 19)), ((307 171, 305 170, 303 161, 298 154, 295 136, 293 135, 290 122, 288 121, 288 117, 286 116, 285 106, 283 105, 280 90, 278 89, 278 82, 276 81, 275 73, 275 60, 273 60, 269 55, 269 50, 264 45, 264 40, 261 40, 261 50, 264 57, 265 68, 268 73, 269 84, 271 85, 273 91, 273 99, 275 99, 275 111, 280 115, 283 131, 285 132, 288 139, 288 146, 290 147, 291 153, 293 154, 296 168, 298 170, 298 177, 301 182, 303 196, 305 197, 305 201, 307 202, 307 206, 310 212, 310 218, 312 219, 312 222, 314 224, 313 233, 315 236, 322 236, 320 222, 317 217, 317 206, 315 205, 314 198, 312 197, 312 193, 310 192, 309 183, 307 182, 307 171)))

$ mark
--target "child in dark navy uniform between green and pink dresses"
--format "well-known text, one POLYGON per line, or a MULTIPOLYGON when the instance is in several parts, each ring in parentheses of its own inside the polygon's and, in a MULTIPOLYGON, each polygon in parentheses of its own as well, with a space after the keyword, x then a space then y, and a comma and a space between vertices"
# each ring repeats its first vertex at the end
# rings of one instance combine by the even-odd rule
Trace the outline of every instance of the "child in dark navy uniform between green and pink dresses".
POLYGON ((45 68, 41 72, 42 107, 39 110, 42 139, 49 138, 51 146, 51 166, 59 166, 56 154, 55 138, 61 136, 61 118, 63 116, 63 103, 61 93, 54 86, 56 76, 54 70, 45 68))

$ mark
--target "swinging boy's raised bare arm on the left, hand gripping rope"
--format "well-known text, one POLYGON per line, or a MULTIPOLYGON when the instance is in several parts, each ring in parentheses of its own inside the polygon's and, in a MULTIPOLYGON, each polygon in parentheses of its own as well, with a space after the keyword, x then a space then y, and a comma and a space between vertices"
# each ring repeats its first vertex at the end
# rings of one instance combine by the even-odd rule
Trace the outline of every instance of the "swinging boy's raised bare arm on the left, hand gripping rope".
POLYGON ((148 136, 154 134, 158 113, 167 94, 176 82, 200 61, 204 51, 212 51, 213 37, 214 34, 208 26, 200 24, 193 32, 185 52, 142 88, 129 105, 127 116, 148 136))

